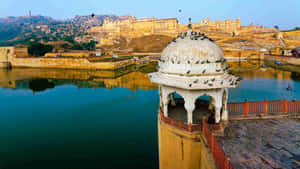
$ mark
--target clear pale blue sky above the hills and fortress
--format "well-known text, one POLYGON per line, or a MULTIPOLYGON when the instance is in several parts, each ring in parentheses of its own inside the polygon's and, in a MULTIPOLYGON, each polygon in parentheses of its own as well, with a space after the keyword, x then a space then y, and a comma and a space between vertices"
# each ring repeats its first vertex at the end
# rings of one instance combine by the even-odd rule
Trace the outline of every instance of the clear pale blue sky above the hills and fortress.
POLYGON ((0 0, 0 17, 32 15, 55 19, 75 15, 115 14, 136 17, 178 18, 199 22, 203 18, 236 19, 242 25, 300 27, 300 0, 0 0), (181 10, 181 12, 179 12, 181 10))

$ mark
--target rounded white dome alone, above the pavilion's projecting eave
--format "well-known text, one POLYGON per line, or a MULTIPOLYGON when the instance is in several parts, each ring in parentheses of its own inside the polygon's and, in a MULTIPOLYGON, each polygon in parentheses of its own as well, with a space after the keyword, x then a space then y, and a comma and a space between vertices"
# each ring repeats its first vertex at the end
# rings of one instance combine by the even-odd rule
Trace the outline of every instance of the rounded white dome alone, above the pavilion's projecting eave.
POLYGON ((185 75, 219 74, 223 73, 224 62, 223 51, 218 45, 204 35, 189 31, 164 49, 159 71, 185 75))

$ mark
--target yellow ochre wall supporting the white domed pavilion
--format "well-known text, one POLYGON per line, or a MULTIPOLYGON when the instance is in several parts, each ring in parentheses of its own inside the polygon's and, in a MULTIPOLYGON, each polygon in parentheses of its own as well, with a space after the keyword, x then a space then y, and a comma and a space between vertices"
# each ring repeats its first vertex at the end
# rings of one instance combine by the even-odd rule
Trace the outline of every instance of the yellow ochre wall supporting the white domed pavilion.
POLYGON ((160 169, 216 169, 203 137, 187 134, 158 120, 160 169))

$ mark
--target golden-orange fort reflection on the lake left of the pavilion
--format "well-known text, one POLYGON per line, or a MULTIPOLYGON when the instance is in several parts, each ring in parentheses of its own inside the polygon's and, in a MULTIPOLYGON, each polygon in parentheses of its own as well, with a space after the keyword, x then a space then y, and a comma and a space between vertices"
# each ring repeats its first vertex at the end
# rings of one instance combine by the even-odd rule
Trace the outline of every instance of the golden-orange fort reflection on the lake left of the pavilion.
POLYGON ((0 86, 8 88, 30 88, 73 84, 78 88, 116 88, 123 87, 132 91, 137 89, 154 90, 156 84, 150 82, 147 72, 155 69, 156 64, 140 68, 129 67, 118 71, 62 70, 62 69, 0 69, 0 86), (38 80, 40 79, 40 80, 38 80))

